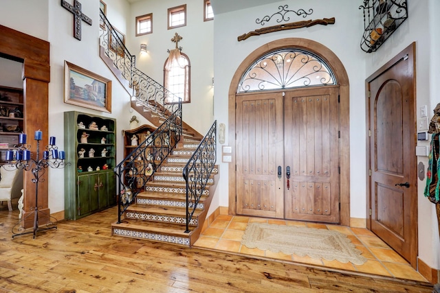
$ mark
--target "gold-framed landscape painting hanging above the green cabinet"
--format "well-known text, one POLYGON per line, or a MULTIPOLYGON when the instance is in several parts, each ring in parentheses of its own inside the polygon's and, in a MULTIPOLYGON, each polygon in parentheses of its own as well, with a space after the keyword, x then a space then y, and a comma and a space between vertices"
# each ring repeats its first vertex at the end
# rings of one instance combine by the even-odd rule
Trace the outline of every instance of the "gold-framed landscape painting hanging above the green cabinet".
POLYGON ((64 61, 64 102, 111 113, 111 80, 64 61))

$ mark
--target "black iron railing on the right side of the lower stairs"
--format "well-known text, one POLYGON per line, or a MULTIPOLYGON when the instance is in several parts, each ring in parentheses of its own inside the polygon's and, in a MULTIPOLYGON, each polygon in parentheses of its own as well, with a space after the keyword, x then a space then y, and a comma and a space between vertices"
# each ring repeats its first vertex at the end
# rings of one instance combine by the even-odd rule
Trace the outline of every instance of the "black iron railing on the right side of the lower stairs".
POLYGON ((206 184, 217 161, 217 120, 214 121, 197 150, 183 169, 186 182, 186 233, 197 209, 201 196, 206 193, 206 184))

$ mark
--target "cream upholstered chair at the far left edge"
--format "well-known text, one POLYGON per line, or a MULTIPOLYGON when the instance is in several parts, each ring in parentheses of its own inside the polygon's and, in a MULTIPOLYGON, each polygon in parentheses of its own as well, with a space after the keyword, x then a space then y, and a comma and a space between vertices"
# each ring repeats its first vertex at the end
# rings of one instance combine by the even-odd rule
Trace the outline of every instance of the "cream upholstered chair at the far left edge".
POLYGON ((11 200, 21 196, 23 189, 23 170, 17 168, 4 169, 0 167, 0 202, 8 202, 12 211, 11 200))

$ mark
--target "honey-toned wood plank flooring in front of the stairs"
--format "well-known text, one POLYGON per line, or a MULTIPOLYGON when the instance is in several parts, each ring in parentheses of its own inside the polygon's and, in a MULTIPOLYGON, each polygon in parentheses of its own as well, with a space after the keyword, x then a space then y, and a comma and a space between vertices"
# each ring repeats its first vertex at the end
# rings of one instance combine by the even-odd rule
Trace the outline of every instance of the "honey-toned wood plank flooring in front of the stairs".
POLYGON ((423 282, 111 236, 116 214, 11 239, 17 207, 0 206, 0 292, 432 292, 423 282))

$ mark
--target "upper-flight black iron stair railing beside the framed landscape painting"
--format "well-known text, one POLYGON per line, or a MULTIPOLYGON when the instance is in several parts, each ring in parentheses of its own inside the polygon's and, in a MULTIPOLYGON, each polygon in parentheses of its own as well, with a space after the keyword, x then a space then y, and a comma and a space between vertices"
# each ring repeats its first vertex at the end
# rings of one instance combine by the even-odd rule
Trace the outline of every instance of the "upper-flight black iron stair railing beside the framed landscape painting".
POLYGON ((120 70, 122 78, 129 82, 136 103, 166 119, 179 108, 179 102, 174 101, 179 101, 180 98, 135 67, 136 58, 130 54, 121 37, 100 10, 100 46, 104 49, 104 54, 120 70))

